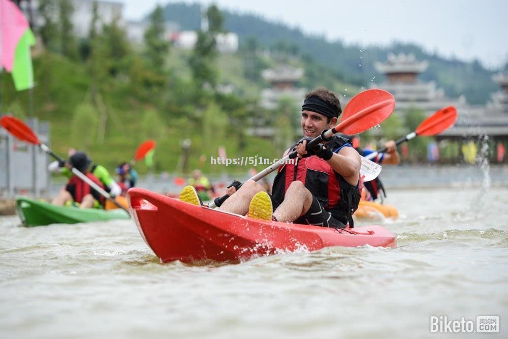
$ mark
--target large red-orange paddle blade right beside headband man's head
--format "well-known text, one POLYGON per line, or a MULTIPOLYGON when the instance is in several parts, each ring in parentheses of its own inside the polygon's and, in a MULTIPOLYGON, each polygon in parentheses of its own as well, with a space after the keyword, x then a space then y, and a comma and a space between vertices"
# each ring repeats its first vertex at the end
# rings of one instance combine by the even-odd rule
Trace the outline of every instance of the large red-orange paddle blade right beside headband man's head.
POLYGON ((393 96, 382 89, 367 89, 354 96, 342 113, 335 132, 357 134, 384 121, 395 108, 393 96))

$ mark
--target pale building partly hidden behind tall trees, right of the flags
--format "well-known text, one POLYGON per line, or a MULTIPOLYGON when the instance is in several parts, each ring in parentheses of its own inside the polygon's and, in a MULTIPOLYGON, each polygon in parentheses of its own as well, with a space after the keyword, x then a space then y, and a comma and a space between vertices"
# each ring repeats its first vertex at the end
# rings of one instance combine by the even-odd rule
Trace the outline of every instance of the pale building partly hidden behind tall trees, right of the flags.
MULTIPOLYGON (((118 20, 119 25, 124 25, 122 20, 123 3, 104 0, 70 0, 70 2, 74 8, 71 21, 74 25, 74 34, 78 37, 86 37, 90 31, 94 2, 97 3, 99 17, 96 28, 100 29, 103 24, 111 23, 114 19, 118 20)), ((39 13, 39 0, 21 2, 21 9, 33 27, 40 27, 44 24, 44 18, 39 13)), ((58 20, 58 12, 54 13, 54 19, 58 20)))

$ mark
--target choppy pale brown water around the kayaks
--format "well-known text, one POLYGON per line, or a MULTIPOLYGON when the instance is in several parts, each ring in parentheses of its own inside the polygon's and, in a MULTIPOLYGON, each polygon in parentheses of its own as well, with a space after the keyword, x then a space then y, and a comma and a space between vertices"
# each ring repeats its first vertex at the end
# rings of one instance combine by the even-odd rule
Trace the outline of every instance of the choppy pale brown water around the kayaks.
MULTIPOLYGON (((508 333, 508 189, 389 191, 395 250, 160 264, 131 221, 0 219, 2 337, 439 337, 429 316, 508 333)), ((456 334, 478 337, 478 333, 456 334)))

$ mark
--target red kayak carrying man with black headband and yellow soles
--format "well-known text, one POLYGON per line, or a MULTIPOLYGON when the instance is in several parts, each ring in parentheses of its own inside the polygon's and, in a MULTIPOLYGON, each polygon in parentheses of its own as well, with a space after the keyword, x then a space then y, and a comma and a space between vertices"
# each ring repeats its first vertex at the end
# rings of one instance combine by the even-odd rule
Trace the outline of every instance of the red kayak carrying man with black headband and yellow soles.
POLYGON ((141 236, 163 262, 239 262, 328 246, 397 246, 395 236, 378 225, 334 229, 264 221, 188 204, 140 188, 130 189, 128 199, 141 236))

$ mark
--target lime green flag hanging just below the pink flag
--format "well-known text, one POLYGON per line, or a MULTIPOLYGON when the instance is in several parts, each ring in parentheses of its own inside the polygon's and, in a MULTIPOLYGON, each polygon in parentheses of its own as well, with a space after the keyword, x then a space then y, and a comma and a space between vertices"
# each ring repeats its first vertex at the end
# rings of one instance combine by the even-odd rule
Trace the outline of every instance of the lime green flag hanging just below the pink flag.
POLYGON ((35 44, 34 34, 30 28, 19 39, 12 67, 12 78, 16 90, 34 87, 34 68, 31 63, 30 46, 35 44))

